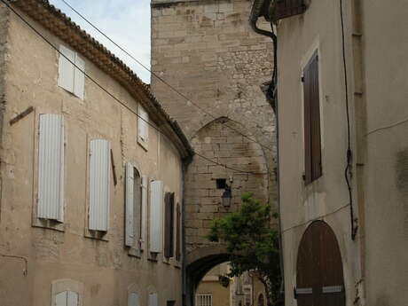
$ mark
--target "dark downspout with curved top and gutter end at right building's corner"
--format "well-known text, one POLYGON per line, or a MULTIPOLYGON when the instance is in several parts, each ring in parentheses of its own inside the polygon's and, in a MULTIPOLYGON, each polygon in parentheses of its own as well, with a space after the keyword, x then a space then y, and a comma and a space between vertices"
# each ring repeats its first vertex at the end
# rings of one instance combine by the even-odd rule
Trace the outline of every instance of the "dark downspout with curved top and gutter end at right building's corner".
MULTIPOLYGON (((269 4, 270 1, 265 1, 265 0, 255 0, 255 3, 252 7, 252 12, 251 16, 249 19, 249 23, 252 27, 252 29, 255 31, 255 33, 271 37, 272 42, 273 42, 273 74, 272 74, 272 80, 271 80, 271 85, 270 89, 268 92, 271 92, 271 98, 273 99, 272 101, 272 107, 274 106, 274 112, 275 112, 275 117, 276 117, 276 139, 277 139, 277 156, 276 156, 276 161, 277 161, 277 167, 276 167, 276 184, 278 188, 278 223, 279 223, 279 266, 280 266, 280 275, 281 275, 281 284, 280 284, 280 293, 283 295, 283 301, 285 301, 285 272, 284 272, 284 260, 283 260, 283 240, 282 240, 282 222, 281 222, 281 209, 280 209, 280 187, 279 187, 279 112, 278 112, 278 37, 275 34, 273 30, 273 24, 271 21, 271 32, 263 30, 259 27, 256 26, 256 21, 259 19, 260 12, 266 8, 266 12, 269 12, 269 4), (267 7, 265 7, 265 5, 267 7)), ((268 19, 270 19, 268 17, 268 19)), ((271 19, 270 19, 271 20, 271 19)), ((283 303, 282 303, 283 304, 283 303)))

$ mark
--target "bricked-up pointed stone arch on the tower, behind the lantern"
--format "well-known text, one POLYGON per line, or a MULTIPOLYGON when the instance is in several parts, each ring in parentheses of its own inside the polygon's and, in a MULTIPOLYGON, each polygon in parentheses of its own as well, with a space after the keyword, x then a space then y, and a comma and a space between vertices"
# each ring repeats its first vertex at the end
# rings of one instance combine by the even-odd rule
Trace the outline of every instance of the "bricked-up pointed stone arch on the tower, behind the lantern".
POLYGON ((184 184, 187 305, 193 304, 194 291, 200 279, 217 264, 228 262, 230 258, 224 245, 206 238, 212 220, 237 211, 243 192, 253 192, 257 199, 267 203, 270 187, 274 188, 270 186, 271 177, 261 145, 242 134, 252 137, 239 122, 220 117, 202 127, 191 139, 198 154, 187 169, 184 184), (220 180, 224 181, 223 184, 219 184, 220 180), (227 208, 221 200, 224 184, 231 186, 232 193, 231 207, 227 208))

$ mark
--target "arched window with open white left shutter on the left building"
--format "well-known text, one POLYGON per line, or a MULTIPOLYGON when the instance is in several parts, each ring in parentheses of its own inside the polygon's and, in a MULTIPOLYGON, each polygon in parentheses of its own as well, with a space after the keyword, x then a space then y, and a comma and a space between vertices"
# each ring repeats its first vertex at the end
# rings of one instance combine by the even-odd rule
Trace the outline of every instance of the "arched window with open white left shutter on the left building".
POLYGON ((142 233, 142 179, 137 169, 126 164, 126 226, 125 244, 140 249, 142 233))

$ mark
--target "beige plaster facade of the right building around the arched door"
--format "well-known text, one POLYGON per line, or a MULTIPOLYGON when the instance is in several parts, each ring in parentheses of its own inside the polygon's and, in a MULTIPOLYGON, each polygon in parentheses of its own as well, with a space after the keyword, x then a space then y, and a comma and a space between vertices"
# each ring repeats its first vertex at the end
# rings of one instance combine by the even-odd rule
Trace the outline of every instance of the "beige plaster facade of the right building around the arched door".
POLYGON ((348 129, 341 1, 311 0, 278 21, 279 185, 286 306, 296 305, 296 260, 308 225, 338 240, 346 305, 400 306, 408 299, 407 86, 404 1, 342 1, 348 76, 352 205, 344 177, 348 129), (305 185, 302 70, 318 51, 323 175, 305 185))

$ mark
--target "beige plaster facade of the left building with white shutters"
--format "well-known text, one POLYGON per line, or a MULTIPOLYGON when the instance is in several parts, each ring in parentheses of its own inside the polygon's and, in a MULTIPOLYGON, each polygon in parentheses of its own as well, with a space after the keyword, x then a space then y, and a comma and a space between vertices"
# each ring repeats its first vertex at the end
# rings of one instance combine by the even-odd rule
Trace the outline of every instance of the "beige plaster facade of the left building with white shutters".
MULTIPOLYGON (((26 4, 19 3, 23 8, 26 4)), ((52 15, 47 5, 38 2, 35 6, 43 10, 42 20, 58 16, 52 15)), ((53 45, 64 44, 75 50, 17 6, 12 8, 53 45)), ((35 14, 35 10, 31 13, 35 14)), ((64 33, 75 34, 75 31, 68 28, 64 33)), ((81 46, 88 50, 93 48, 86 40, 81 46)), ((96 59, 98 51, 95 54, 96 59)), ((137 106, 142 101, 144 106, 154 106, 157 102, 142 95, 137 98, 112 75, 102 71, 96 64, 101 65, 100 62, 93 62, 81 52, 80 55, 85 59, 86 73, 117 100, 89 78, 85 78, 83 100, 60 88, 59 53, 0 4, 0 99, 4 117, 0 170, 0 304, 53 306, 56 294, 74 291, 79 294, 80 306, 125 306, 129 293, 137 293, 141 305, 148 305, 148 296, 152 293, 158 294, 158 305, 167 301, 181 305, 183 259, 164 260, 161 253, 153 257, 148 247, 135 256, 125 247, 124 183, 125 165, 132 162, 149 181, 161 180, 165 192, 175 192, 176 203, 181 205, 182 159, 188 157, 179 146, 182 136, 176 129, 166 128, 169 122, 159 120, 165 117, 162 111, 148 110, 153 118, 151 123, 161 126, 165 132, 159 133, 150 126, 148 145, 139 145, 137 106), (29 106, 34 107, 33 112, 12 125, 9 123, 29 106), (39 114, 64 116, 65 217, 62 224, 35 218, 39 114), (103 239, 92 238, 87 228, 89 144, 95 138, 110 142, 114 161, 114 169, 110 169, 109 174, 109 224, 103 239)), ((143 90, 139 92, 145 92, 143 90)))

